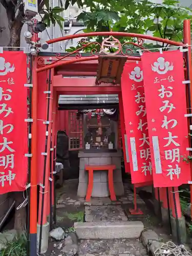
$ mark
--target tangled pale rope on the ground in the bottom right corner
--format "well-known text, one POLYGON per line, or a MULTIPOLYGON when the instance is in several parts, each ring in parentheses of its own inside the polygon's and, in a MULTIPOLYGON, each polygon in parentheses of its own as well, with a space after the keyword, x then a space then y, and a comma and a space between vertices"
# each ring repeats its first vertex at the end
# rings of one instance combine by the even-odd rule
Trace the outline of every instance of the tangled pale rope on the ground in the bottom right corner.
POLYGON ((169 241, 155 250, 155 256, 192 256, 184 245, 176 245, 169 241))

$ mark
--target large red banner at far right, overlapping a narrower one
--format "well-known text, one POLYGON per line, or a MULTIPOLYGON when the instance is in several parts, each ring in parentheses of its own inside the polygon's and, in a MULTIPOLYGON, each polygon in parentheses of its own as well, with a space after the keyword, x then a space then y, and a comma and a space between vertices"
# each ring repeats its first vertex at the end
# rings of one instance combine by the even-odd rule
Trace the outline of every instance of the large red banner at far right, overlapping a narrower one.
POLYGON ((154 187, 180 186, 190 180, 183 54, 141 56, 154 187))

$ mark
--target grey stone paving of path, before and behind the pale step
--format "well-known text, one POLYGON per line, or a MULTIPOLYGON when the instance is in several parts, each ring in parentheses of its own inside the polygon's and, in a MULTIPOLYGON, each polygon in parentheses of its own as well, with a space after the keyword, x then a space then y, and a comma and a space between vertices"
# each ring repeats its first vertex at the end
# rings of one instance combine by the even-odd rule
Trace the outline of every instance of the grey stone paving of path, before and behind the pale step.
MULTIPOLYGON (((118 197, 117 201, 107 198, 92 198, 86 202, 84 198, 77 197, 78 180, 65 181, 57 191, 57 208, 67 210, 69 207, 83 207, 85 210, 86 222, 97 221, 127 221, 128 218, 122 206, 133 207, 134 195, 129 184, 124 184, 125 194, 118 197), (63 209, 62 209, 63 208, 63 209)), ((144 204, 144 201, 137 195, 137 203, 144 204)), ((113 239, 113 240, 80 240, 77 244, 69 244, 65 240, 52 242, 46 256, 147 256, 146 250, 138 239, 113 239)))

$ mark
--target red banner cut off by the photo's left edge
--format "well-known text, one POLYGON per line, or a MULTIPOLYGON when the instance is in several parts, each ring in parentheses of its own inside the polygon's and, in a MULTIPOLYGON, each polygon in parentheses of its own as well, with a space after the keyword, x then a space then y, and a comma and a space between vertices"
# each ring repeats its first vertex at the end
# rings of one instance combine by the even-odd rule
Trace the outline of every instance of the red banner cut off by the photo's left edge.
POLYGON ((26 71, 23 52, 0 54, 0 194, 23 191, 27 184, 26 71))

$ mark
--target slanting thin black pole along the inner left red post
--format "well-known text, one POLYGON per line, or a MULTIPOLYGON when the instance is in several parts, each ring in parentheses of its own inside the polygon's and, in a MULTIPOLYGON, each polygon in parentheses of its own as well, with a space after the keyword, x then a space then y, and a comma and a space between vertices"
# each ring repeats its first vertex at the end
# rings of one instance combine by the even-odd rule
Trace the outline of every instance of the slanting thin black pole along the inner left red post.
MULTIPOLYGON (((48 84, 49 84, 48 91, 50 91, 50 89, 51 89, 51 70, 49 70, 48 84)), ((47 102, 47 121, 49 121, 49 108, 50 108, 50 93, 48 93, 48 102, 47 102)), ((45 153, 47 153, 47 147, 48 147, 48 130, 49 130, 49 123, 46 124, 45 153)), ((39 230, 39 248, 38 248, 39 254, 40 254, 40 251, 41 251, 42 221, 43 221, 43 216, 44 216, 46 162, 47 162, 47 154, 44 156, 44 176, 43 176, 43 181, 42 181, 42 204, 41 204, 40 230, 39 230)))

